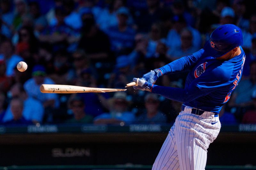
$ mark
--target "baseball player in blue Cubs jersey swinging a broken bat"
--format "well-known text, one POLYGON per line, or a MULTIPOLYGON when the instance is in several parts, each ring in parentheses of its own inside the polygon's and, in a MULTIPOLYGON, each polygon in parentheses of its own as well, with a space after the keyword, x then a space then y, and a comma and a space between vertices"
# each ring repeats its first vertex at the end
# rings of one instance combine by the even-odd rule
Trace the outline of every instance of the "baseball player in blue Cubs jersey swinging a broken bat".
POLYGON ((142 78, 133 78, 134 89, 183 102, 152 170, 205 168, 207 148, 220 132, 218 113, 238 85, 245 61, 242 32, 233 24, 216 28, 204 48, 142 78), (185 88, 154 85, 166 74, 190 70, 185 88))

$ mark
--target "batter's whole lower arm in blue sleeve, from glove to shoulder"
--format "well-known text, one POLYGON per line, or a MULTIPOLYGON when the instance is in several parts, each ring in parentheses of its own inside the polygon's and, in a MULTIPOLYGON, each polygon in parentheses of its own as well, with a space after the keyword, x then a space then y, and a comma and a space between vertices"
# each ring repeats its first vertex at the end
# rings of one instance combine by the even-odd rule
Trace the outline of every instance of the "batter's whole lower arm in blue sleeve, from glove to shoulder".
POLYGON ((200 77, 193 80, 185 89, 152 85, 151 92, 160 94, 171 100, 186 103, 227 85, 230 85, 230 81, 225 73, 222 74, 216 72, 216 70, 211 70, 205 71, 200 77))

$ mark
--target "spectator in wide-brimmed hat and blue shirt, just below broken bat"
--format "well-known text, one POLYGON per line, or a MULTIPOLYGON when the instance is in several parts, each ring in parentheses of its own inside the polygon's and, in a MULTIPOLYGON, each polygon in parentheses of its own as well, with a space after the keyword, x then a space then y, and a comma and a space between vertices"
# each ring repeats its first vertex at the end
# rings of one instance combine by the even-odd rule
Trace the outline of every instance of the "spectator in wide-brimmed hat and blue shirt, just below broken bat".
POLYGON ((125 92, 115 92, 114 97, 110 99, 110 112, 103 113, 94 118, 95 124, 119 124, 132 123, 135 116, 128 111, 129 101, 125 92))

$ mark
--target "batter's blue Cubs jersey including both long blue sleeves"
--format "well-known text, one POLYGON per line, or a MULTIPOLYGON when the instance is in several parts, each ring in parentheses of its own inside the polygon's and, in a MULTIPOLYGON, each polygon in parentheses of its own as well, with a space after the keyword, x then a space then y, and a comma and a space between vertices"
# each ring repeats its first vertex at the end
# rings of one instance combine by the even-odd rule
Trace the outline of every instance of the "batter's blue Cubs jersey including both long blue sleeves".
MULTIPOLYGON (((190 70, 185 89, 152 85, 152 92, 184 105, 219 113, 238 85, 245 61, 241 54, 229 60, 218 60, 208 46, 159 68, 163 74, 190 70)), ((217 56, 219 57, 219 56, 217 56)))

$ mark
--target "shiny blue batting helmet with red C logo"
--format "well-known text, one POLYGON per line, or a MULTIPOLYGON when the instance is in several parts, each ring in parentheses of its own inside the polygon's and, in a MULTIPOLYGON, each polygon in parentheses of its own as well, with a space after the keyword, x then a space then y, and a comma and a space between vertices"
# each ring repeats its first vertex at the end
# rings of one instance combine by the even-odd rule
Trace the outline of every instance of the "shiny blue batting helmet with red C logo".
POLYGON ((210 36, 210 46, 223 55, 243 45, 242 31, 238 26, 225 24, 216 28, 210 36))

